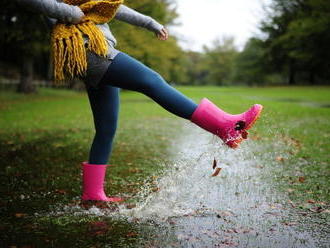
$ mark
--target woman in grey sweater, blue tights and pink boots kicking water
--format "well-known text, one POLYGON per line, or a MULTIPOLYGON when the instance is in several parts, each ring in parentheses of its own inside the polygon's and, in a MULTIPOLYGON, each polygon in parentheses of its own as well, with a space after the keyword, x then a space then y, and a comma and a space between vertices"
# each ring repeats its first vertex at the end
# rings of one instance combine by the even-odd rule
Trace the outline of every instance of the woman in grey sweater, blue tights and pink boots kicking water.
MULTIPOLYGON (((81 4, 89 0, 17 0, 21 4, 47 16, 52 23, 65 26, 86 21, 81 4), (70 4, 68 4, 70 3, 70 4), (78 7, 80 6, 80 7, 78 7)), ((115 0, 104 0, 103 2, 115 0)), ((95 2, 95 1, 94 1, 95 2)), ((167 40, 168 31, 149 16, 142 15, 123 4, 116 8, 115 19, 154 32, 158 39, 167 40)), ((262 106, 254 105, 240 115, 230 115, 207 99, 199 105, 170 87, 164 79, 127 54, 115 49, 116 39, 107 23, 95 23, 105 37, 107 53, 99 56, 89 49, 92 36, 85 37, 87 68, 83 76, 94 117, 96 134, 88 162, 83 163, 82 200, 118 202, 119 197, 104 193, 104 177, 112 142, 116 132, 119 88, 141 92, 169 112, 192 121, 201 128, 219 136, 231 148, 247 138, 247 131, 259 117, 262 106)), ((61 39, 60 39, 61 40, 61 39)))

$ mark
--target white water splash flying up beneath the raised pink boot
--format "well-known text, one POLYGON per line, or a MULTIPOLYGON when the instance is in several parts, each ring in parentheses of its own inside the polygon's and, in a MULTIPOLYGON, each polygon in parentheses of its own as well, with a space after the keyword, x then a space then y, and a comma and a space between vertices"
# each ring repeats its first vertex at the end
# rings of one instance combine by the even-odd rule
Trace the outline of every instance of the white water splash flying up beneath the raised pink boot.
POLYGON ((175 149, 174 162, 158 181, 159 192, 149 195, 133 210, 122 210, 122 214, 167 219, 201 209, 242 212, 276 199, 272 186, 261 179, 260 170, 266 166, 256 154, 260 152, 256 145, 232 150, 217 138, 210 140, 205 133, 190 132, 183 135, 175 149), (223 168, 218 177, 211 177, 214 157, 223 168))

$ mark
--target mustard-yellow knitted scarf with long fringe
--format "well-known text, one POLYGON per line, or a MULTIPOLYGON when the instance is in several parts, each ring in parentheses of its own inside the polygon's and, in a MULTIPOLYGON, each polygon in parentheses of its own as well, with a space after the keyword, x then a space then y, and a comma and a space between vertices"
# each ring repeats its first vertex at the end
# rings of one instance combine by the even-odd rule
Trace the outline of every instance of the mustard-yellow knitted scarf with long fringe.
POLYGON ((108 46, 104 34, 96 24, 107 23, 116 14, 123 0, 64 0, 78 6, 85 14, 79 24, 58 23, 52 31, 52 50, 55 82, 66 77, 83 76, 87 70, 84 36, 88 37, 87 49, 99 56, 106 56, 108 46))

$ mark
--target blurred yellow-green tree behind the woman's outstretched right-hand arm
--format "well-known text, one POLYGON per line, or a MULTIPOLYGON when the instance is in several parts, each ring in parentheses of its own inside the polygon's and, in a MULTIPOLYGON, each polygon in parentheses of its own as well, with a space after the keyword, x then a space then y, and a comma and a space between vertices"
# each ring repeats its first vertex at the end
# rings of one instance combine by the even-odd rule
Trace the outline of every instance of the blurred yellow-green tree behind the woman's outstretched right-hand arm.
MULTIPOLYGON (((153 17, 163 25, 174 23, 177 13, 168 0, 127 0, 129 7, 153 17)), ((118 40, 118 49, 125 51, 173 82, 185 81, 185 72, 181 66, 184 54, 175 37, 160 42, 155 34, 132 25, 112 21, 111 29, 118 40)))

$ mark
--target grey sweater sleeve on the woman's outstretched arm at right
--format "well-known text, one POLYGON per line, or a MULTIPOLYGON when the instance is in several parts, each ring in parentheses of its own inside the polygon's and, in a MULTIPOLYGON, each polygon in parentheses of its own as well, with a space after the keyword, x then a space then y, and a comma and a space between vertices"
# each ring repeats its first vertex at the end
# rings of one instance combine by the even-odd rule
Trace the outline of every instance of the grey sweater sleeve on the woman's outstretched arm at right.
POLYGON ((163 25, 159 24, 150 16, 143 15, 125 5, 119 7, 115 19, 146 28, 156 33, 163 28, 163 25))

